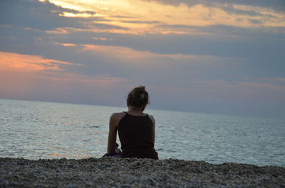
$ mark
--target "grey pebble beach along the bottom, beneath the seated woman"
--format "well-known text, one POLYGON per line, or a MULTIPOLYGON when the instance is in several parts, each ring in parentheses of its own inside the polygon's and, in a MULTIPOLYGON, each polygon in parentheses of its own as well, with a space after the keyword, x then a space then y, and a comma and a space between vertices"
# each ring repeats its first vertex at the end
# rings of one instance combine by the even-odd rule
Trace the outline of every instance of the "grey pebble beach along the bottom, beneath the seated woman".
POLYGON ((285 167, 110 157, 0 158, 0 187, 285 187, 285 167))

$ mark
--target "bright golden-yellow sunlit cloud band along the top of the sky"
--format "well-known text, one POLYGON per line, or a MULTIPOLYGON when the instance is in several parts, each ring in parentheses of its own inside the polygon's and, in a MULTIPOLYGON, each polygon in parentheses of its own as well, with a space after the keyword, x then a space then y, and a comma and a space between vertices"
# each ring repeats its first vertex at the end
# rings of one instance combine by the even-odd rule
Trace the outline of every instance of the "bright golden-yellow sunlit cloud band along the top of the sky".
MULTIPOLYGON (((259 6, 233 4, 232 7, 236 11, 229 12, 222 9, 225 4, 212 7, 197 4, 190 7, 185 4, 174 6, 160 4, 157 1, 141 0, 78 0, 76 1, 76 4, 72 0, 49 1, 67 9, 95 12, 95 14, 65 12, 61 13, 59 16, 82 18, 100 17, 103 18, 103 20, 94 21, 94 23, 122 27, 122 29, 98 29, 94 26, 93 30, 96 30, 97 32, 130 34, 201 34, 198 31, 187 28, 187 26, 227 25, 242 28, 274 28, 285 26, 284 13, 275 12, 270 8, 261 8, 259 6), (255 12, 255 14, 243 14, 239 13, 239 11, 251 11, 255 12), (173 26, 173 23, 175 23, 175 25, 186 27, 175 27, 173 26)), ((60 32, 64 32, 64 30, 60 32)))

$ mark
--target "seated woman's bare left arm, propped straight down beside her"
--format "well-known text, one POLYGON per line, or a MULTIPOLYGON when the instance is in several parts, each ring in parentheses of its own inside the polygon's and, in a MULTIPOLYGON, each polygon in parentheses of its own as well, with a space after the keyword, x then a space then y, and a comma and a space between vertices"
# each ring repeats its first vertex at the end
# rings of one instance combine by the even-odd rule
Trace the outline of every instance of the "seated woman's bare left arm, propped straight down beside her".
POLYGON ((108 153, 115 153, 115 142, 117 137, 117 121, 115 118, 115 114, 110 116, 109 121, 109 136, 108 136, 108 153))

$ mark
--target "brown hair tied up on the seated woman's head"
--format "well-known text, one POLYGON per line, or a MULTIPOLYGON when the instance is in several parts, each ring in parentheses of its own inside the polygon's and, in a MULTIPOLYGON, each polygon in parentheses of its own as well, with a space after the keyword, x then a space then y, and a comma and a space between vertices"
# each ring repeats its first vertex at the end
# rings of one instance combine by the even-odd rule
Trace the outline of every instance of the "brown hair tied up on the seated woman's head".
POLYGON ((128 106, 142 107, 149 104, 148 102, 148 93, 145 91, 144 86, 135 87, 128 94, 127 99, 128 106))

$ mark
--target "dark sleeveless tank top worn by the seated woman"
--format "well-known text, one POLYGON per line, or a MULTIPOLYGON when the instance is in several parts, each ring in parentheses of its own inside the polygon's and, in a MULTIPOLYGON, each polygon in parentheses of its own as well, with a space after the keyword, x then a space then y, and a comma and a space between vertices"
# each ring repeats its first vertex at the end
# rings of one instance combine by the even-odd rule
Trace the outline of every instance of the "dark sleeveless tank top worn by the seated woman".
POLYGON ((158 159, 153 143, 154 126, 148 115, 133 116, 125 112, 118 123, 122 157, 158 159))

